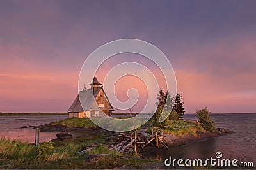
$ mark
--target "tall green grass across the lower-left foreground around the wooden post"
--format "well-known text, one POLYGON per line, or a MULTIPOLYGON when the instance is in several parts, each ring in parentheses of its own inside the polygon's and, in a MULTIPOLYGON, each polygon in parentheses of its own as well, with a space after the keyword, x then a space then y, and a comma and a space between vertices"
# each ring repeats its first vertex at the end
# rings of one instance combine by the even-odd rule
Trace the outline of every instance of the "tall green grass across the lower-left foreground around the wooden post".
POLYGON ((109 151, 101 144, 103 137, 81 137, 54 143, 41 143, 35 147, 20 141, 0 139, 0 169, 112 169, 123 165, 141 169, 141 164, 157 160, 126 157, 115 150, 109 151), (98 143, 95 148, 84 155, 77 152, 84 145, 98 143), (99 154, 107 154, 100 155, 99 154))

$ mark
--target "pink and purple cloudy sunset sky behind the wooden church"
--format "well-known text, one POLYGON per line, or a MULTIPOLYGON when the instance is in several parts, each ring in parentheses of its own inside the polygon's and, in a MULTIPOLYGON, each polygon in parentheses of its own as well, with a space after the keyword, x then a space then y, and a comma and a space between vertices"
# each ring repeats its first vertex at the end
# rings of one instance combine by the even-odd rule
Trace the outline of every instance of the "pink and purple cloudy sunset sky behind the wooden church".
MULTIPOLYGON (((166 55, 186 113, 205 106, 212 113, 256 113, 255 6, 246 0, 2 0, 0 112, 66 112, 86 57, 109 41, 134 38, 166 55)), ((130 60, 156 69, 136 55, 118 55, 101 66, 98 80, 130 60)), ((120 101, 134 84, 142 98, 147 94, 142 81, 120 80, 120 101)))

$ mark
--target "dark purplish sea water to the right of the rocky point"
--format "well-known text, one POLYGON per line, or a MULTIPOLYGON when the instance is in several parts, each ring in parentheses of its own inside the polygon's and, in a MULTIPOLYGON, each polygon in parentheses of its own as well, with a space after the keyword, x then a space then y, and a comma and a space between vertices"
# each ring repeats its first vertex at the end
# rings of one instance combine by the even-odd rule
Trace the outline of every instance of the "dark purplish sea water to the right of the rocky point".
MULTIPOLYGON (((195 115, 184 115, 184 118, 196 120, 195 115)), ((175 146, 169 150, 161 150, 162 159, 172 156, 173 159, 209 159, 221 152, 223 159, 237 159, 239 162, 253 162, 256 167, 256 114, 212 114, 215 127, 224 127, 234 134, 219 136, 192 143, 191 145, 175 146)))

